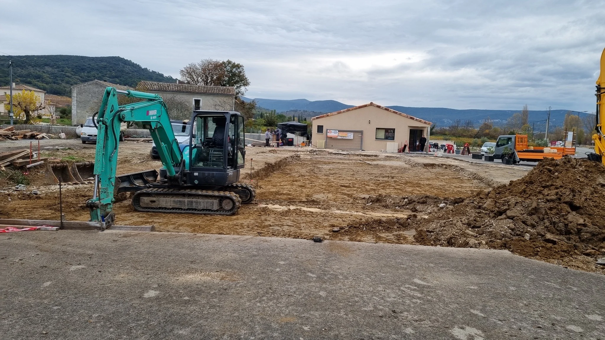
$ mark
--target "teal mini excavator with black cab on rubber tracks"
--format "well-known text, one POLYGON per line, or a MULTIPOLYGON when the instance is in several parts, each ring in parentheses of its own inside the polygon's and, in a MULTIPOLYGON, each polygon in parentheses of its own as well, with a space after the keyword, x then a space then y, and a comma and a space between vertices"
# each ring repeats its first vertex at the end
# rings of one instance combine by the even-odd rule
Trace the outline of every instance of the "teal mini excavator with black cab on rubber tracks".
POLYGON ((240 113, 193 111, 184 124, 189 143, 179 144, 159 95, 108 87, 93 122, 98 129, 94 193, 86 203, 91 221, 113 223, 120 192, 134 192, 132 206, 142 212, 232 215, 254 199, 251 186, 237 183, 246 156, 240 113), (142 101, 120 106, 118 94, 142 101), (122 122, 151 132, 163 165, 159 173, 152 169, 116 176, 122 122))

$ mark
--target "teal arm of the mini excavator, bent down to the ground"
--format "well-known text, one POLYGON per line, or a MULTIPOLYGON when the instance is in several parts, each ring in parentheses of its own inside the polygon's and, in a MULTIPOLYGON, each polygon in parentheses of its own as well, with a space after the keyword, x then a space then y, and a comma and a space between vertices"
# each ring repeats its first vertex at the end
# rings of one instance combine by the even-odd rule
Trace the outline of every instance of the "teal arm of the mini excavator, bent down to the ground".
MULTIPOLYGON (((93 120, 94 117, 93 117, 93 120)), ((149 129, 169 181, 178 181, 183 169, 183 155, 174 137, 168 111, 157 94, 122 91, 108 87, 103 94, 97 119, 97 148, 94 161, 94 194, 87 201, 91 221, 113 221, 116 193, 116 166, 120 123, 136 122, 149 129), (117 95, 144 99, 118 105, 117 95)))

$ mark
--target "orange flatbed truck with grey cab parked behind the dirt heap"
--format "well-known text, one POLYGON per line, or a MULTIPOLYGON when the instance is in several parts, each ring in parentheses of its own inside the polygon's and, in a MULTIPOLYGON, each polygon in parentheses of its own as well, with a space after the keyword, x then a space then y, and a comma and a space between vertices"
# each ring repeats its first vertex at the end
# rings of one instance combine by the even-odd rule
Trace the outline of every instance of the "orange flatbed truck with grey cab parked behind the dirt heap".
POLYGON ((500 159, 505 164, 522 160, 538 162, 545 158, 561 159, 567 155, 575 155, 575 148, 528 146, 528 136, 525 134, 499 136, 494 148, 494 159, 500 159), (508 150, 505 151, 506 148, 508 150))

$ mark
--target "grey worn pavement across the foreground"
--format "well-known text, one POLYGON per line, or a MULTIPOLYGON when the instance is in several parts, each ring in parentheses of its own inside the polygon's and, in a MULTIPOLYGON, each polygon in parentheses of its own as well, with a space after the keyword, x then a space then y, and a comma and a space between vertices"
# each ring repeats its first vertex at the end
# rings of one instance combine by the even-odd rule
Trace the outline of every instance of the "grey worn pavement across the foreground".
POLYGON ((605 339, 605 276, 500 250, 111 230, 0 239, 5 339, 605 339))

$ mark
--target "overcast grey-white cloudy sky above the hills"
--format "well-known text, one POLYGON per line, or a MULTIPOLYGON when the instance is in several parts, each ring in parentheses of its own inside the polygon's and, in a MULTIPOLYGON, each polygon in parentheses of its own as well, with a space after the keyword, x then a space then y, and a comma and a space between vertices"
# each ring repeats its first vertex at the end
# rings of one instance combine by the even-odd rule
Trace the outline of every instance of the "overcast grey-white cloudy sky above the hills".
POLYGON ((5 54, 246 67, 247 97, 595 110, 605 0, 8 1, 5 54))

